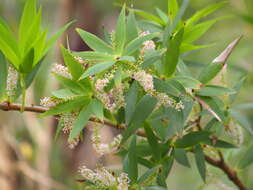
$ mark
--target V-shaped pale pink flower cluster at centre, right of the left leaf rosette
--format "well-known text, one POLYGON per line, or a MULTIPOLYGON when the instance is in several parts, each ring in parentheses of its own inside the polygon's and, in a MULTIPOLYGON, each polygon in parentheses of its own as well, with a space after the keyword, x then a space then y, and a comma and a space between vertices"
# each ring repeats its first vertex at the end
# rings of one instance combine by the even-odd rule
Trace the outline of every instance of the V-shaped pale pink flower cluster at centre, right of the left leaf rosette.
POLYGON ((111 112, 117 111, 119 108, 125 106, 124 87, 123 85, 116 86, 106 92, 104 88, 109 83, 111 77, 98 79, 95 83, 97 91, 96 96, 104 104, 105 108, 111 112))

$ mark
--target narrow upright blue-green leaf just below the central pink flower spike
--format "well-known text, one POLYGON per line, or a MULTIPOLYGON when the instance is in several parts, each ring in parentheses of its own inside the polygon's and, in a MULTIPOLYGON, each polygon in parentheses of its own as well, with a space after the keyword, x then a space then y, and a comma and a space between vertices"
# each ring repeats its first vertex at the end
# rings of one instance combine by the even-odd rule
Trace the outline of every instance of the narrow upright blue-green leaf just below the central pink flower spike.
POLYGON ((125 109, 125 121, 126 125, 130 123, 133 117, 135 106, 138 99, 138 84, 133 82, 126 95, 126 109, 125 109))

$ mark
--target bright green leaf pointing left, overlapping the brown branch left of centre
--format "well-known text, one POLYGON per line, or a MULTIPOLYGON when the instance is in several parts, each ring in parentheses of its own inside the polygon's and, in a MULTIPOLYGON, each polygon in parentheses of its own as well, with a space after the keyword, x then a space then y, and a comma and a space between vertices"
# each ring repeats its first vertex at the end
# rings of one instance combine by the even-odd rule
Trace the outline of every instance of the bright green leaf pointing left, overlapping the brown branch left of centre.
POLYGON ((50 108, 50 110, 41 114, 42 116, 58 115, 65 112, 76 111, 89 103, 89 97, 87 96, 76 96, 71 100, 67 100, 63 103, 59 103, 56 106, 50 108))

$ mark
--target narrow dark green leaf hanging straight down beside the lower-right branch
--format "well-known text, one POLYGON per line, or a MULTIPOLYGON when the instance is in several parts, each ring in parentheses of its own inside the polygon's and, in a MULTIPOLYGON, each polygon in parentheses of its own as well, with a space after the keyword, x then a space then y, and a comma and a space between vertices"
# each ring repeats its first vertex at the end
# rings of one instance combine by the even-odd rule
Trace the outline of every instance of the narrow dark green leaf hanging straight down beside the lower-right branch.
POLYGON ((198 144, 195 146, 195 161, 199 171, 199 174, 203 181, 206 181, 206 164, 205 164, 205 156, 202 150, 202 147, 198 144))

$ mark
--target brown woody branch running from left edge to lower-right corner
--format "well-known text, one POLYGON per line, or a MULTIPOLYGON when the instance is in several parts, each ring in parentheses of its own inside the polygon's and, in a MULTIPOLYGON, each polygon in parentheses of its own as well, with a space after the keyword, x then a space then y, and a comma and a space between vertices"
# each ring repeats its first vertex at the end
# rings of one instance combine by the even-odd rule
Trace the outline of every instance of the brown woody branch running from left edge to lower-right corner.
MULTIPOLYGON (((4 111, 20 111, 21 105, 20 104, 9 104, 9 103, 1 103, 0 104, 0 109, 4 110, 4 111)), ((48 110, 48 108, 44 108, 41 106, 25 106, 24 107, 25 111, 29 111, 29 112, 35 112, 35 113, 43 113, 46 112, 48 110)), ((125 129, 126 126, 125 125, 116 125, 114 123, 111 123, 110 121, 100 121, 99 119, 92 117, 90 119, 90 121, 92 122, 99 122, 99 123, 103 123, 109 127, 113 127, 113 128, 117 128, 117 129, 125 129)), ((142 136, 142 137, 146 137, 146 134, 144 131, 137 131, 137 135, 142 136)), ((220 159, 216 160, 214 158, 211 158, 210 156, 205 155, 205 160, 213 165, 214 167, 217 167, 219 169, 221 169, 226 175, 227 177, 240 189, 240 190, 248 190, 247 187, 242 183, 242 181, 239 179, 237 172, 231 168, 223 159, 223 156, 221 153, 219 153, 220 155, 220 159)))

